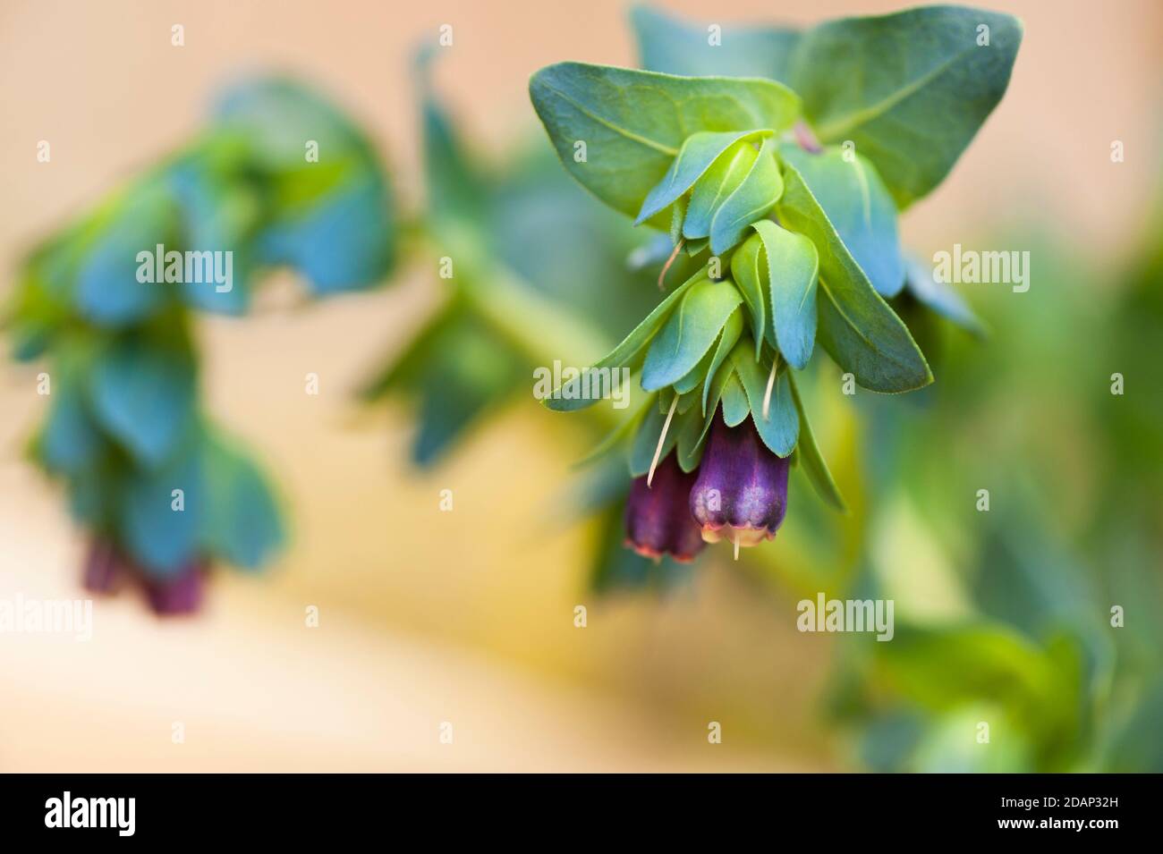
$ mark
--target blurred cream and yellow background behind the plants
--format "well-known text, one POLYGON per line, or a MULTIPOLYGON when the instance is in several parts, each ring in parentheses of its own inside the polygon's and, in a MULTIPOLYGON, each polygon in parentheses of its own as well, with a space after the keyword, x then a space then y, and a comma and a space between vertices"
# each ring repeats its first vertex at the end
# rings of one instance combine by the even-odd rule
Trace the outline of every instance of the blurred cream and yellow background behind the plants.
MULTIPOLYGON (((793 23, 900 7, 661 5, 793 23)), ((1009 92, 946 184, 904 217, 905 241, 949 245, 1035 213, 1103 251, 1129 246, 1150 188, 1143 170, 1110 164, 1110 146, 1158 162, 1163 5, 989 6, 1026 24, 1009 92)), ((625 12, 607 0, 6 2, 0 288, 38 237, 174 148, 248 71, 290 71, 334 96, 414 204, 408 58, 421 40, 454 26, 438 86, 499 155, 535 130, 534 70, 634 63, 625 12), (174 23, 184 48, 170 44, 174 23), (41 139, 50 164, 36 162, 41 139)), ((794 630, 791 597, 757 591, 728 562, 664 600, 585 591, 592 532, 538 524, 584 450, 580 431, 518 404, 419 475, 405 414, 352 402, 431 308, 427 271, 308 309, 291 290, 272 282, 255 316, 200 322, 207 408, 276 475, 290 550, 262 577, 220 573, 194 620, 163 624, 129 596, 95 603, 90 644, 0 636, 0 770, 836 767, 820 709, 829 644, 794 630), (307 372, 321 376, 319 397, 304 394, 307 372), (452 512, 438 510, 445 488, 452 512), (588 608, 584 630, 577 604, 588 608), (307 605, 320 609, 316 630, 304 626, 307 605), (721 745, 707 742, 711 720, 721 745), (438 741, 442 722, 451 745, 438 741)), ((84 541, 21 459, 43 416, 37 369, 0 363, 0 596, 74 597, 84 541)))

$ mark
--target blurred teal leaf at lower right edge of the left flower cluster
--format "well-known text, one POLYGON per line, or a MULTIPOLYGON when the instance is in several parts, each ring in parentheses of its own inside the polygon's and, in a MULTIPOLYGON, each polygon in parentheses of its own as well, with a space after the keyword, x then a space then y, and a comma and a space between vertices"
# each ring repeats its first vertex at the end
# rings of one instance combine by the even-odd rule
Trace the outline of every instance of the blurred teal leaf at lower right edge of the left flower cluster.
POLYGON ((257 569, 286 537, 269 482, 245 454, 216 436, 207 437, 202 465, 202 545, 236 567, 257 569))

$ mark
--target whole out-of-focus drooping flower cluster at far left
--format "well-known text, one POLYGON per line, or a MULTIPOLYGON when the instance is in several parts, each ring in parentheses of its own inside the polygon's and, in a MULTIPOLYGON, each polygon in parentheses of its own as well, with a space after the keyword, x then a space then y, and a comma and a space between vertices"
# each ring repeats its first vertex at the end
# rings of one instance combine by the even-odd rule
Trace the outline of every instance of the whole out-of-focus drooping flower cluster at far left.
POLYGON ((49 361, 30 453, 92 534, 91 589, 130 581, 158 612, 187 612, 213 562, 257 568, 279 547, 270 485, 200 404, 191 309, 242 315, 276 267, 315 295, 372 285, 392 265, 392 217, 351 122, 308 89, 259 80, 31 252, 5 322, 15 358, 49 361), (197 277, 191 258, 207 265, 197 277), (208 281, 215 264, 226 277, 208 281))

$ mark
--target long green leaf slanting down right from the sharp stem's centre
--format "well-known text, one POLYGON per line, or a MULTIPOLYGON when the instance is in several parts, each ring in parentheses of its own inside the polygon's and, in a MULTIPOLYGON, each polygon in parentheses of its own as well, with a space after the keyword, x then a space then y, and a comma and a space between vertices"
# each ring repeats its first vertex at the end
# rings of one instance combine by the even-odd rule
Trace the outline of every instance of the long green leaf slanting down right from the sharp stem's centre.
POLYGON ((820 252, 820 344, 864 388, 909 392, 927 386, 933 374, 908 329, 872 288, 791 164, 784 165, 784 181, 776 206, 779 221, 820 252))

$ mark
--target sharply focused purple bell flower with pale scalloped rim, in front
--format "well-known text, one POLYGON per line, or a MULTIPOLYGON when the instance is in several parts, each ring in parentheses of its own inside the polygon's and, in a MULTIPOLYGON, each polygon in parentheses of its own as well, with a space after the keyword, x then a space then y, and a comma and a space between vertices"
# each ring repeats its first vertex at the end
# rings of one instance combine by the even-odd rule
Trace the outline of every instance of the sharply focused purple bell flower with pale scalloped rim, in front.
POLYGON ((716 415, 691 489, 702 539, 754 546, 775 537, 787 511, 789 462, 768 450, 750 418, 729 428, 716 415))

